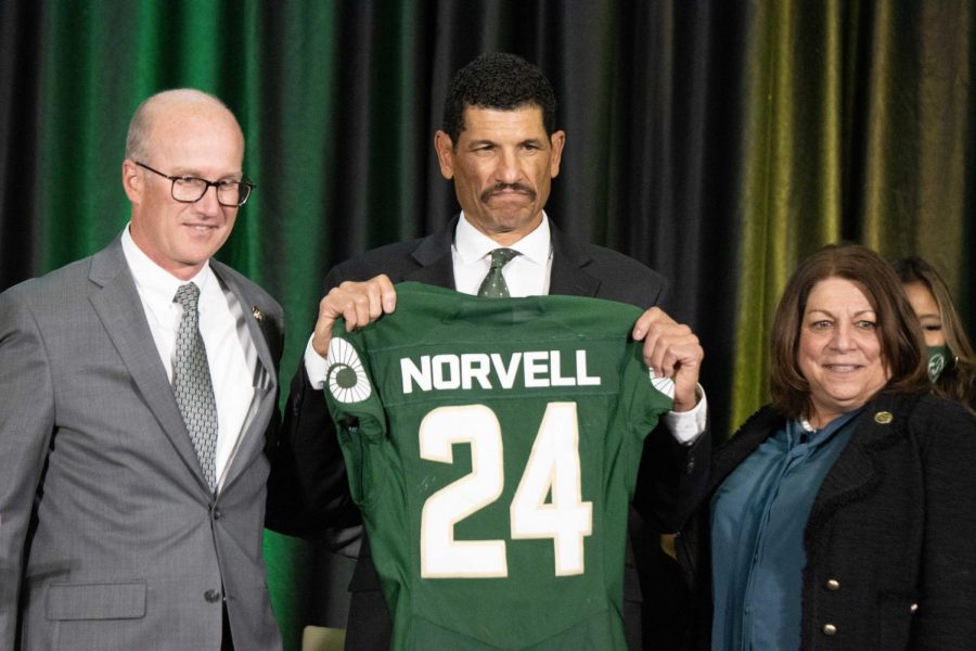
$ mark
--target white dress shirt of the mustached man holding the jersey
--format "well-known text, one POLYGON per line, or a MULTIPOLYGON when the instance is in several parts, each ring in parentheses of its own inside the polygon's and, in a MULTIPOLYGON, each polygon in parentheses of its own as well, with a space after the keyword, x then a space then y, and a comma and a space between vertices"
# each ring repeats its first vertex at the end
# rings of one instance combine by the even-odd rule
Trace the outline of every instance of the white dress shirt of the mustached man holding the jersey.
MULTIPOLYGON (((478 288, 491 266, 491 251, 498 247, 498 242, 473 227, 462 212, 461 218, 458 219, 458 228, 454 230, 454 242, 451 245, 451 259, 454 263, 454 289, 465 294, 477 294, 478 288)), ((522 254, 502 267, 502 276, 505 284, 509 285, 509 294, 516 297, 549 294, 549 280, 552 275, 552 237, 549 229, 549 216, 543 212, 542 221, 536 227, 536 230, 508 248, 513 248, 522 254)), ((322 390, 325 386, 329 363, 316 353, 311 340, 312 337, 309 337, 308 345, 305 347, 305 370, 312 386, 322 390)), ((656 380, 655 386, 659 391, 668 393, 665 384, 656 380)), ((698 404, 693 409, 669 411, 662 417, 671 435, 683 445, 694 443, 705 431, 707 423, 708 404, 701 384, 696 394, 698 404)), ((670 383, 670 395, 675 397, 673 383, 670 383)))

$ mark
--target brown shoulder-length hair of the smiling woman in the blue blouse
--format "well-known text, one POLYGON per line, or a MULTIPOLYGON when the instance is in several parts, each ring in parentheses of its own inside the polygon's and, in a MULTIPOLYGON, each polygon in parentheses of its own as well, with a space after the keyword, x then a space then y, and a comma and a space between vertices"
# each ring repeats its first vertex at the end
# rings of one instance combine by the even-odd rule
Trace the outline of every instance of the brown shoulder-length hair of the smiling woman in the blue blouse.
POLYGON ((810 384, 796 356, 810 292, 822 280, 843 278, 858 285, 877 317, 882 362, 892 391, 929 387, 922 329, 890 265, 866 246, 829 244, 801 261, 786 283, 776 307, 770 345, 770 393, 773 406, 788 418, 809 416, 810 384))

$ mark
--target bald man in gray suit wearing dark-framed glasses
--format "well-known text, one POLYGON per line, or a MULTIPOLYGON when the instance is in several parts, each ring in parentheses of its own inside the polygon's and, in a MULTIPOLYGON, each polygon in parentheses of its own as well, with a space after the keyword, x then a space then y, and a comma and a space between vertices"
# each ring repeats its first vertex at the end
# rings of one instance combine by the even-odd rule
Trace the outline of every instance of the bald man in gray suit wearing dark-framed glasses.
POLYGON ((281 307, 210 259, 253 186, 231 112, 136 112, 131 221, 0 294, 0 649, 280 649, 261 559, 281 307))

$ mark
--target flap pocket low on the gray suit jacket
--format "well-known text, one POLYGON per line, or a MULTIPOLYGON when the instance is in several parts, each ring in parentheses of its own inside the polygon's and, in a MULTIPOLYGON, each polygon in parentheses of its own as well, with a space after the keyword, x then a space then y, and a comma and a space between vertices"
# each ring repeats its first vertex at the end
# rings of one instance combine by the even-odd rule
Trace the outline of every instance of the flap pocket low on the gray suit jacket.
POLYGON ((145 616, 145 582, 51 584, 47 617, 66 620, 138 620, 145 616))

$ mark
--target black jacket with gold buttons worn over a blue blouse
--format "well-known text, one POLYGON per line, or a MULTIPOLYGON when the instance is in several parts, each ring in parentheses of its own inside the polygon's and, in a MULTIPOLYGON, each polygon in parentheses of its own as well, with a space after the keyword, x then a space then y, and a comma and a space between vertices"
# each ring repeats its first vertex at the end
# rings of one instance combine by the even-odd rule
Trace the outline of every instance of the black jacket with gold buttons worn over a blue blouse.
MULTIPOLYGON (((695 595, 690 648, 711 649, 710 496, 784 422, 765 407, 716 451, 709 499, 678 537, 695 595)), ((869 403, 804 533, 801 649, 974 648, 974 468, 976 421, 959 405, 892 394, 869 403)))

